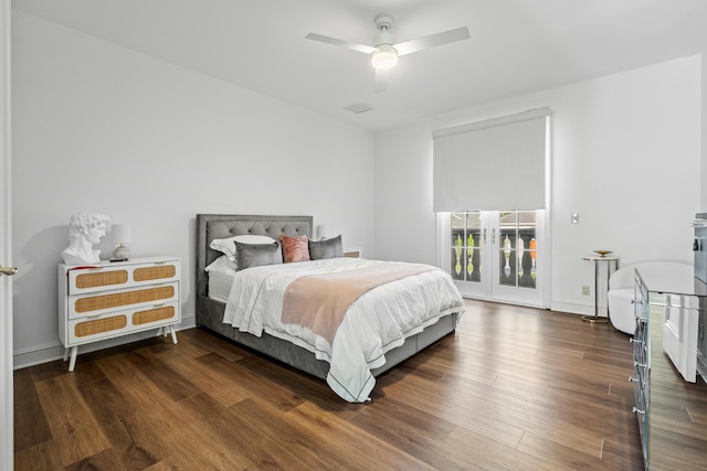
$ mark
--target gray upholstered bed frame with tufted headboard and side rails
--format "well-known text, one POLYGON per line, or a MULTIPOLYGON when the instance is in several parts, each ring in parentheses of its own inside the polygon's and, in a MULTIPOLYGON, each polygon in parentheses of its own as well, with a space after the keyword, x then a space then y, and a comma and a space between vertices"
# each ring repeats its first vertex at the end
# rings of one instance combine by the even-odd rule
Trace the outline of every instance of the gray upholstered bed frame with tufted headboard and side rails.
MULTIPOLYGON (((288 236, 306 234, 312 237, 312 216, 197 214, 197 325, 325 379, 329 372, 329 364, 315 358, 312 352, 266 333, 257 338, 250 333, 240 332, 238 329, 223 323, 225 303, 209 298, 208 272, 204 270, 210 263, 222 255, 209 247, 214 238, 244 234, 267 235, 274 239, 277 239, 281 234, 288 236)), ((456 328, 456 313, 445 315, 437 323, 428 327, 414 336, 408 338, 403 345, 386 353, 386 364, 380 368, 373 370, 373 375, 383 373, 453 332, 456 328)))

